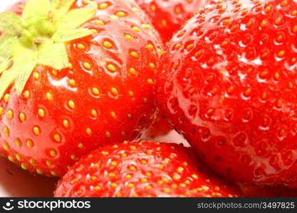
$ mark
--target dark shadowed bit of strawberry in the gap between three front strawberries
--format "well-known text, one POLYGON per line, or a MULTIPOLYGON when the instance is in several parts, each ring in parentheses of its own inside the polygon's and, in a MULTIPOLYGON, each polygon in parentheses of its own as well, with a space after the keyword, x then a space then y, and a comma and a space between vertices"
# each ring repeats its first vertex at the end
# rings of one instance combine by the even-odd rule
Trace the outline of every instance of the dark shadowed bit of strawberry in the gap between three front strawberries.
POLYGON ((157 116, 150 125, 150 129, 147 131, 147 136, 149 138, 155 138, 157 136, 162 136, 167 134, 170 130, 172 130, 170 124, 168 123, 167 118, 160 114, 160 112, 157 112, 157 116))

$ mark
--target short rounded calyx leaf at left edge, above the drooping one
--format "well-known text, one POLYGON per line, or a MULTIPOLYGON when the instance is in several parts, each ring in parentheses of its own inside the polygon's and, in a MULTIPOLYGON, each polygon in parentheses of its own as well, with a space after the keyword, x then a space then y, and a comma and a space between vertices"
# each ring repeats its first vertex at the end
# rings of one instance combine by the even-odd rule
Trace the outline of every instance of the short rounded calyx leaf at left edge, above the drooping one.
POLYGON ((23 21, 15 13, 0 13, 0 30, 9 35, 21 35, 23 31, 23 21))

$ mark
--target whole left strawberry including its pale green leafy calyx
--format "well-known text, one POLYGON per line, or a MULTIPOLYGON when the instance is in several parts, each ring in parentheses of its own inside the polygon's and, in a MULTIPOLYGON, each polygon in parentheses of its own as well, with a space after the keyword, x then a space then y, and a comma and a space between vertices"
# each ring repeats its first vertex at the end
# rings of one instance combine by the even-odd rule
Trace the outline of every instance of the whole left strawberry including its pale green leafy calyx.
POLYGON ((147 127, 162 47, 135 1, 27 2, 0 14, 0 151, 60 176, 147 127))

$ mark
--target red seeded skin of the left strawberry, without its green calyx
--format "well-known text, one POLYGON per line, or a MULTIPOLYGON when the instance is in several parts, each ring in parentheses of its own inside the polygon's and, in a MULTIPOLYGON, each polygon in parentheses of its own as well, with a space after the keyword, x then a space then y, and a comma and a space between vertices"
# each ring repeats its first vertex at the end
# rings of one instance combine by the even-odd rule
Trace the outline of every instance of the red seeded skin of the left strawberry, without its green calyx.
POLYGON ((94 2, 84 27, 95 31, 68 43, 69 68, 37 66, 23 94, 0 101, 0 151, 25 170, 63 175, 84 153, 138 136, 154 113, 157 32, 134 1, 94 2))

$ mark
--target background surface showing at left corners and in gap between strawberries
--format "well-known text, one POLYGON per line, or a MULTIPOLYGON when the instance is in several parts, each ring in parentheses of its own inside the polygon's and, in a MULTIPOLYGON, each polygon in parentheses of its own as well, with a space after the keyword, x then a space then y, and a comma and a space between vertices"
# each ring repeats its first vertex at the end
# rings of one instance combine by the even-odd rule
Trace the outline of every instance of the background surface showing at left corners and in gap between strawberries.
MULTIPOLYGON (((0 11, 17 0, 0 0, 0 11)), ((152 141, 152 139, 150 140, 152 141)), ((155 141, 186 143, 181 136, 171 132, 155 141)), ((18 166, 0 157, 0 197, 51 197, 56 186, 56 178, 45 178, 21 170, 18 166)))

